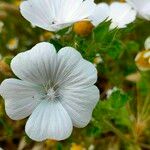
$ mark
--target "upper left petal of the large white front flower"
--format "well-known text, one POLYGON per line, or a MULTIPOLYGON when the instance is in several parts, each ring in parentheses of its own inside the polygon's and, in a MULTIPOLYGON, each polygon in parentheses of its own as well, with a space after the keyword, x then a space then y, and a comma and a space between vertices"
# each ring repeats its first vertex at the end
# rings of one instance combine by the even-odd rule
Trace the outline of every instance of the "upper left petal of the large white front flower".
POLYGON ((46 84, 54 76, 56 57, 54 46, 42 42, 31 50, 18 54, 12 60, 11 68, 22 80, 46 84))

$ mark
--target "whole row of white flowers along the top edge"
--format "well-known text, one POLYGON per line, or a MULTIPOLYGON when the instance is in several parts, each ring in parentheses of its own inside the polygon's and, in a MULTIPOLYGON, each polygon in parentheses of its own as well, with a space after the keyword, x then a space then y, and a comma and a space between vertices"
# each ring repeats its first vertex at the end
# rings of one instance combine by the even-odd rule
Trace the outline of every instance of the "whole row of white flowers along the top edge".
POLYGON ((93 0, 47 1, 28 0, 20 6, 21 14, 32 24, 49 31, 58 31, 79 21, 89 21, 94 26, 111 20, 110 29, 124 28, 139 17, 150 20, 148 0, 127 0, 95 4, 93 0))

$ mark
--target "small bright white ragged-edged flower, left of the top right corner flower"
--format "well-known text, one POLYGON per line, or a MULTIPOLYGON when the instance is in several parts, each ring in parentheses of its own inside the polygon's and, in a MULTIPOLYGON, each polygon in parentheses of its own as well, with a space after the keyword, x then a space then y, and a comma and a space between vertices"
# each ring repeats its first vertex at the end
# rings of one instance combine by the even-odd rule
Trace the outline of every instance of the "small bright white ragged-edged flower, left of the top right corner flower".
POLYGON ((136 19, 136 11, 127 3, 113 2, 110 5, 109 19, 112 20, 110 29, 125 28, 136 19))

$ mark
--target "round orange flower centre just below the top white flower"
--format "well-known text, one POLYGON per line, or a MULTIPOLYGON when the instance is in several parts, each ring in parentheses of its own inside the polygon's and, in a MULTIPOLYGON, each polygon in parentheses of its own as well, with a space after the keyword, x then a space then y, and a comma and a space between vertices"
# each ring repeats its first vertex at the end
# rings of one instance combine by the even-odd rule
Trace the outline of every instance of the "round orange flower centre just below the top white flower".
POLYGON ((73 31, 79 36, 88 36, 93 28, 94 26, 90 21, 80 21, 74 24, 73 31))

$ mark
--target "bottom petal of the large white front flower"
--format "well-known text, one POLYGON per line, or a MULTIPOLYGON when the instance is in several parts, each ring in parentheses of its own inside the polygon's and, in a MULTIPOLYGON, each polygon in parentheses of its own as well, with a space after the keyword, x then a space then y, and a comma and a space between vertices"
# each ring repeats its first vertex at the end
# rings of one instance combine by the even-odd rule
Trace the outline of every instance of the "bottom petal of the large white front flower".
POLYGON ((36 141, 64 140, 71 135, 72 121, 59 101, 43 101, 27 121, 25 131, 36 141))

